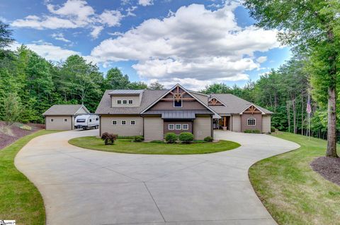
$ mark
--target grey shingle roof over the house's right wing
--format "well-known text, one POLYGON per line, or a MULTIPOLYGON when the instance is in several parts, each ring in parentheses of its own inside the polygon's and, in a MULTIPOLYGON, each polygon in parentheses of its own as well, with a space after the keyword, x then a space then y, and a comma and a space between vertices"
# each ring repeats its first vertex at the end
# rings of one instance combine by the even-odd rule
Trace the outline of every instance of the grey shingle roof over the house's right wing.
MULTIPOLYGON (((232 94, 211 94, 210 97, 216 97, 218 100, 220 100, 220 102, 225 104, 225 106, 209 106, 210 108, 214 109, 217 114, 240 114, 242 111, 244 111, 244 109, 252 105, 251 102, 248 102, 232 94)), ((254 104, 254 106, 259 108, 265 114, 273 114, 273 112, 263 109, 256 104, 254 104)))

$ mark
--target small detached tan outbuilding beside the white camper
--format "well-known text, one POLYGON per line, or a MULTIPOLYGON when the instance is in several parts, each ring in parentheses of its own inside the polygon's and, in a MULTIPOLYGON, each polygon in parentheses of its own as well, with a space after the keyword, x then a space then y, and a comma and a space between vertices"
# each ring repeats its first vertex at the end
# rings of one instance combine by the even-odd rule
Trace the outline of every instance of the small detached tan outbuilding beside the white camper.
POLYGON ((74 118, 89 113, 89 110, 81 104, 55 104, 42 116, 45 117, 46 130, 73 130, 74 118))

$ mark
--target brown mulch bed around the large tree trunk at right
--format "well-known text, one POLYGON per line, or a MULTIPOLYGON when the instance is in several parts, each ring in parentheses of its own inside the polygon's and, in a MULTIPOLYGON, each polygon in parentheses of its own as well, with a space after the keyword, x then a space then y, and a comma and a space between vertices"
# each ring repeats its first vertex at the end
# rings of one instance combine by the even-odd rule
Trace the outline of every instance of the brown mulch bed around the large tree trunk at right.
POLYGON ((340 186, 340 158, 319 157, 310 166, 325 179, 340 186))

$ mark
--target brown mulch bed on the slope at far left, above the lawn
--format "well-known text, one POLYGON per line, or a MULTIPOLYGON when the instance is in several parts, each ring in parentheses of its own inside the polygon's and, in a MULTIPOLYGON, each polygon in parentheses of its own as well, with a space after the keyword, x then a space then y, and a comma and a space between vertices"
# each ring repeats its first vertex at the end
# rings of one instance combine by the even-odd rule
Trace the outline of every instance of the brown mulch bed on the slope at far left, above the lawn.
MULTIPOLYGON (((23 125, 22 123, 14 123, 11 126, 11 130, 13 133, 13 136, 6 135, 4 133, 0 132, 0 150, 6 147, 7 145, 11 145, 11 143, 15 142, 19 138, 22 138, 23 136, 29 135, 31 133, 34 133, 35 131, 45 129, 44 124, 36 124, 36 123, 28 123, 27 126, 30 126, 32 130, 23 130, 19 126, 23 125)), ((0 126, 4 126, 4 122, 0 121, 0 126)))

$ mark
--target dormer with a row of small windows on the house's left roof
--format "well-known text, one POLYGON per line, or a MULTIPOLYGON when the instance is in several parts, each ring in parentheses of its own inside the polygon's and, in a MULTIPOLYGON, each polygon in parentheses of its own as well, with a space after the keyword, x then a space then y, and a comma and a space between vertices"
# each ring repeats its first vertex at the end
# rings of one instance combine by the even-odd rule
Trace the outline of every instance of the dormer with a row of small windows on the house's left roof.
POLYGON ((144 90, 113 90, 111 96, 111 107, 140 107, 144 90))

